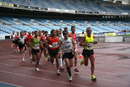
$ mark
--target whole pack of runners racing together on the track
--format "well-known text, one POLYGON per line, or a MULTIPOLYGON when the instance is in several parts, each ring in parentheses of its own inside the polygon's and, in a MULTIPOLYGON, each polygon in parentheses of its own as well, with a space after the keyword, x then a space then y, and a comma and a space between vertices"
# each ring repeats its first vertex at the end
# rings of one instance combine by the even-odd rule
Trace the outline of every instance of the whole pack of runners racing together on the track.
MULTIPOLYGON (((69 81, 72 81, 71 68, 74 64, 74 71, 79 72, 77 68, 77 46, 78 40, 75 33, 75 26, 71 26, 71 33, 68 32, 67 27, 64 28, 62 32, 61 29, 51 30, 50 35, 47 31, 35 31, 27 32, 21 31, 20 34, 17 32, 12 33, 12 47, 15 52, 17 48, 21 54, 23 54, 22 61, 25 61, 25 53, 28 48, 30 62, 35 62, 35 70, 39 71, 39 62, 41 59, 42 53, 44 53, 44 60, 54 63, 56 62, 56 73, 60 75, 60 71, 63 71, 63 63, 65 63, 69 81)), ((96 81, 94 76, 94 44, 97 44, 94 41, 94 36, 92 34, 91 28, 86 29, 86 34, 80 41, 80 46, 84 47, 82 55, 84 56, 83 60, 80 62, 80 65, 88 65, 88 59, 91 62, 91 79, 96 81)))

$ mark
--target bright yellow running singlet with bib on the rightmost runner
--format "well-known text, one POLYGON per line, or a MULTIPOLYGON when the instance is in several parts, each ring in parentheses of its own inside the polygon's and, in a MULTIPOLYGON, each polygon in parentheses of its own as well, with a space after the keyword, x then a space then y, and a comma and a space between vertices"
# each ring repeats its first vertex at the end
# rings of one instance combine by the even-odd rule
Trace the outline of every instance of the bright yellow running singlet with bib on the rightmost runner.
POLYGON ((84 49, 86 50, 93 50, 94 48, 94 45, 93 45, 93 42, 94 42, 94 38, 93 38, 93 34, 91 34, 91 37, 88 37, 87 34, 85 35, 86 38, 85 38, 85 44, 86 43, 89 43, 89 46, 85 46, 84 49))

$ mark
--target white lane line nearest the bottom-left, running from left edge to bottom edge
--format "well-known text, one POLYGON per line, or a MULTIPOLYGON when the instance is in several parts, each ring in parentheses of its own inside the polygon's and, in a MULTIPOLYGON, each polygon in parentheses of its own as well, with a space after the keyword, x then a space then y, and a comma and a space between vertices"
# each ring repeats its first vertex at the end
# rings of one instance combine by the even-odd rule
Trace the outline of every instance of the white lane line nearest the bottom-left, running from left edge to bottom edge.
POLYGON ((46 80, 46 81, 51 81, 51 82, 56 82, 56 83, 62 83, 62 84, 67 84, 67 85, 74 85, 74 86, 79 86, 79 87, 89 87, 89 86, 86 86, 86 85, 80 85, 80 84, 74 84, 74 83, 68 83, 68 82, 62 82, 62 81, 56 81, 56 80, 46 79, 46 78, 39 78, 39 77, 35 77, 35 76, 29 76, 29 75, 24 75, 24 74, 18 74, 18 73, 14 73, 14 72, 3 71, 3 70, 0 70, 0 72, 2 72, 2 73, 7 73, 7 74, 13 74, 13 75, 24 76, 24 77, 28 77, 28 78, 46 80))

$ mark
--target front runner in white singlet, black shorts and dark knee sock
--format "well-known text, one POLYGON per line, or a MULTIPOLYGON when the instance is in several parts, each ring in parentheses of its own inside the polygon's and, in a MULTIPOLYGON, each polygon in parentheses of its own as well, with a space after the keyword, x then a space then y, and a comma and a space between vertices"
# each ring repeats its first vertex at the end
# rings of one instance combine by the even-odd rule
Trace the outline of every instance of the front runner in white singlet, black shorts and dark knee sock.
POLYGON ((68 32, 63 33, 64 39, 62 39, 63 44, 63 60, 65 61, 67 72, 69 74, 69 81, 72 81, 71 67, 73 67, 73 57, 75 43, 71 37, 68 37, 68 32))

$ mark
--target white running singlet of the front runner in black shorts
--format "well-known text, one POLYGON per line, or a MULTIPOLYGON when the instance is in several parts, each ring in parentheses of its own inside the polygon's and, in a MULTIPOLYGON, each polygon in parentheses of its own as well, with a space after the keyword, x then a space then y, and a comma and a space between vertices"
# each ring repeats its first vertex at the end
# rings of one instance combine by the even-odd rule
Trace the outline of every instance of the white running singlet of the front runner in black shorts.
POLYGON ((68 37, 67 40, 63 39, 63 52, 69 53, 72 51, 72 38, 68 37))

